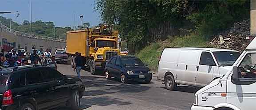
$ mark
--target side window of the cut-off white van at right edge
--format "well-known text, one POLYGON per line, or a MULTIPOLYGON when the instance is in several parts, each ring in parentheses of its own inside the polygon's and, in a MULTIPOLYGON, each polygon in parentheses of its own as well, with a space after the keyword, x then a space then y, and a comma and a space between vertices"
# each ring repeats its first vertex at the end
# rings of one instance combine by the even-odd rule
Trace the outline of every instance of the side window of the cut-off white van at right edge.
POLYGON ((238 67, 239 78, 256 79, 256 53, 248 53, 238 67))

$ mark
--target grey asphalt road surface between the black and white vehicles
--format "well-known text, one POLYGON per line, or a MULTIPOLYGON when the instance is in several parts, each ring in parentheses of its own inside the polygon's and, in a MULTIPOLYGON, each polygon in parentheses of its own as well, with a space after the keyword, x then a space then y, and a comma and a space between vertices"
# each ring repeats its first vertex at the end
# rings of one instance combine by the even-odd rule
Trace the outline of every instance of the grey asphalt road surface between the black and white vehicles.
MULTIPOLYGON (((65 75, 76 74, 70 65, 58 64, 57 68, 65 75)), ((197 91, 182 85, 177 91, 168 91, 155 77, 151 83, 122 84, 117 79, 106 80, 105 76, 93 76, 84 70, 81 76, 87 86, 81 110, 190 110, 197 91)))

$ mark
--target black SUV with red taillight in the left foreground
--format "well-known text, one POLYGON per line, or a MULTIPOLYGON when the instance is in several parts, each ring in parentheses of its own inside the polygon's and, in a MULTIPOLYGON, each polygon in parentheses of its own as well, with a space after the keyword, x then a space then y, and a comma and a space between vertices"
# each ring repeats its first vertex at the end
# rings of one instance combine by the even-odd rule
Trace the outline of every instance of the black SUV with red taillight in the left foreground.
POLYGON ((79 78, 67 78, 50 67, 0 68, 0 110, 78 110, 84 88, 79 78))

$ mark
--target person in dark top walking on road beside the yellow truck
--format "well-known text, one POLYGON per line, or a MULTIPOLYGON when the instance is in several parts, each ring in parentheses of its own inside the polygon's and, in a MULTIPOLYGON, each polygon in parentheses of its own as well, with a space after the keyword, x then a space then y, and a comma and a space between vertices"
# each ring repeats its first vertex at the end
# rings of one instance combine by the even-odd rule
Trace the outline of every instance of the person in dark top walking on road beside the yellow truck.
POLYGON ((81 54, 78 52, 76 52, 75 55, 76 57, 75 57, 74 71, 76 70, 77 76, 81 79, 80 71, 83 67, 83 57, 81 57, 81 54))

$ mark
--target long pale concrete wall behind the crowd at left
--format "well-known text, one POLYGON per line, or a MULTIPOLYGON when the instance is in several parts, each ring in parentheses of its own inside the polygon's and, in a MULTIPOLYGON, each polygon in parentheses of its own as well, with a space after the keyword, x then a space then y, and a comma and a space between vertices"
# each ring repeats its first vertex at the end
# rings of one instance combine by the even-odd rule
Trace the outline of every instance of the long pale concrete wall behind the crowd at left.
POLYGON ((3 42, 3 39, 7 39, 8 43, 15 42, 16 45, 14 48, 27 49, 27 52, 31 51, 32 49, 48 48, 51 49, 51 53, 54 53, 55 49, 65 48, 66 46, 66 42, 25 37, 10 33, 0 28, 0 49, 3 49, 4 44, 6 44, 3 42))

